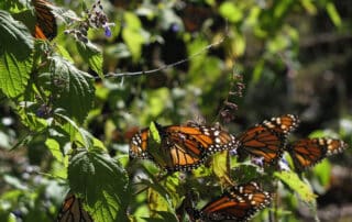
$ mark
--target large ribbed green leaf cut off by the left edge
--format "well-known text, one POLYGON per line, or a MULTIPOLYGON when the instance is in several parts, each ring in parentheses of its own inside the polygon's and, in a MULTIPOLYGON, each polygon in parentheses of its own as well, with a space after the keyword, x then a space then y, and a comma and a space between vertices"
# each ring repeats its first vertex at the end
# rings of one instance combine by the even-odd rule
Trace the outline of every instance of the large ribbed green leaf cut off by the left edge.
POLYGON ((25 90, 30 78, 33 37, 22 23, 0 10, 0 88, 14 98, 25 90))

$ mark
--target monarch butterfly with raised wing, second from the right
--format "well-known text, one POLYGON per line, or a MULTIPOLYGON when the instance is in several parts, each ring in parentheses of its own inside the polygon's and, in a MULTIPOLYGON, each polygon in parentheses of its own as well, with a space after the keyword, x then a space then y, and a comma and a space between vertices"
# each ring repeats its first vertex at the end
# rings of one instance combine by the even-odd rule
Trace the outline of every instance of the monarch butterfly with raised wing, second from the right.
POLYGON ((243 159, 249 154, 262 157, 264 163, 275 163, 280 158, 287 135, 298 125, 298 118, 286 114, 265 120, 238 136, 237 153, 243 159))

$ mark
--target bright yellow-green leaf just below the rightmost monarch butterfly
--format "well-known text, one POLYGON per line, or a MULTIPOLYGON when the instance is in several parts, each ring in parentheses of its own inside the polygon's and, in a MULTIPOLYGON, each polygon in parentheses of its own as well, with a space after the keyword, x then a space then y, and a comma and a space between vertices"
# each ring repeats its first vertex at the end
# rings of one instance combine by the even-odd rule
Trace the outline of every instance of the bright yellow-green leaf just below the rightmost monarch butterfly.
POLYGON ((296 191, 301 200, 307 203, 314 203, 317 196, 311 191, 310 187, 299 179, 294 171, 275 171, 274 176, 286 184, 290 189, 296 191))

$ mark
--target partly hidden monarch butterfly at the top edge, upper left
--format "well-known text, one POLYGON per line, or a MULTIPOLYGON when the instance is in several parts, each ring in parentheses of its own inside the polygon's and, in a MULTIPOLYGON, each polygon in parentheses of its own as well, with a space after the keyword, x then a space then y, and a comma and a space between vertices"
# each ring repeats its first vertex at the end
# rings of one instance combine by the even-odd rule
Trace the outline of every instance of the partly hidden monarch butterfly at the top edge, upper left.
POLYGON ((32 0, 35 9, 36 24, 34 37, 41 40, 53 40, 57 35, 57 24, 51 7, 46 0, 32 0))

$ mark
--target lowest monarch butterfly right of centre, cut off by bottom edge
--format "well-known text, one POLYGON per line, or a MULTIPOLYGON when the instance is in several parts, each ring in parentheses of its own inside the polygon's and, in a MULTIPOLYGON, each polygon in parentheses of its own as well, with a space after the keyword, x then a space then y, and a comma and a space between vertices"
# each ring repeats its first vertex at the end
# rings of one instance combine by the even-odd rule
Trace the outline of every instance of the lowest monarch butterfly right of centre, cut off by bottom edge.
POLYGON ((263 191, 256 182, 232 187, 201 210, 191 210, 194 219, 200 221, 248 221, 257 211, 271 203, 272 196, 263 191))

